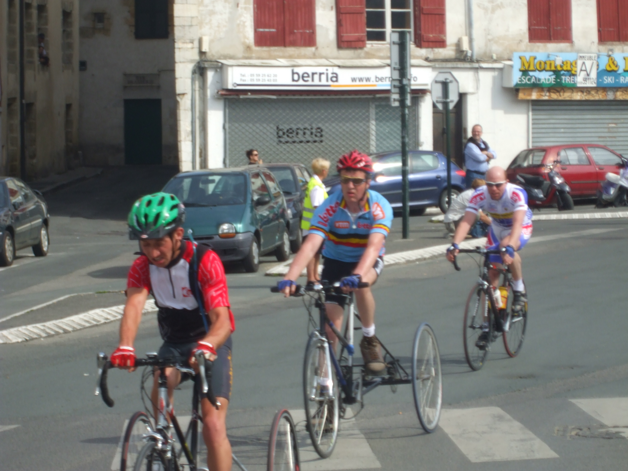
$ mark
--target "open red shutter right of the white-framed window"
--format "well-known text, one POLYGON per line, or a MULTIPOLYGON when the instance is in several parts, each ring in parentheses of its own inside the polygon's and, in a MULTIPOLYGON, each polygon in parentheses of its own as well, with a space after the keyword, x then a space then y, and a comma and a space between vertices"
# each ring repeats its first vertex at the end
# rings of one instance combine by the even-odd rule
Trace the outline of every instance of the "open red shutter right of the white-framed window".
POLYGON ((447 47, 445 0, 414 0, 414 44, 420 48, 447 47))

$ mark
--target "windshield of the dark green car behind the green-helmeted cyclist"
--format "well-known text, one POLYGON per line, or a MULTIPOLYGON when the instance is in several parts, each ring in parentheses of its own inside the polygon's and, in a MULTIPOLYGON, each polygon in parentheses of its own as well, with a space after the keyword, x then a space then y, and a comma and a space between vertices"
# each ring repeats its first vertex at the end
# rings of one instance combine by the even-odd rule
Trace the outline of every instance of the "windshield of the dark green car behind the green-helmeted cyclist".
POLYGON ((211 173, 178 176, 166 183, 187 207, 241 205, 246 199, 246 179, 242 173, 211 173))

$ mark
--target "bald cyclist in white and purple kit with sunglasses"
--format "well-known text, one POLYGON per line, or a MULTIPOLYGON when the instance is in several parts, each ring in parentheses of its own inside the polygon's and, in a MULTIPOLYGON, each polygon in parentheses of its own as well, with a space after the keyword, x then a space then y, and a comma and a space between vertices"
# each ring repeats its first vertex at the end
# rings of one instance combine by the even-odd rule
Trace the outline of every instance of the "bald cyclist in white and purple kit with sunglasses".
MULTIPOLYGON (((486 173, 486 185, 479 187, 469 200, 465 215, 460 220, 452 245, 447 249, 447 260, 453 262, 458 255, 458 244, 475 224, 478 212, 482 210, 492 218, 486 248, 495 250, 499 247, 501 254, 490 255, 490 262, 501 266, 506 264, 512 273, 512 290, 514 298, 512 307, 519 312, 528 299, 523 284, 521 271, 521 257, 517 251, 521 250, 532 236, 532 211, 528 208, 528 194, 522 188, 509 183, 506 171, 494 166, 486 173)), ((496 290, 499 284, 499 272, 489 271, 490 282, 496 290)), ((494 296, 496 298, 497 296, 494 296)), ((486 342, 488 338, 488 324, 485 332, 478 341, 486 342)))

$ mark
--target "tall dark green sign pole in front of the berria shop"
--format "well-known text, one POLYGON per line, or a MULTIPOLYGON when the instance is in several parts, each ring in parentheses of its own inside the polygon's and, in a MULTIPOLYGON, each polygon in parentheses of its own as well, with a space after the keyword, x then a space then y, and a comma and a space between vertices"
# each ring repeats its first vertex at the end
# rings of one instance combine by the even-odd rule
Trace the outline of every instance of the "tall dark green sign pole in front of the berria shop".
POLYGON ((403 223, 402 223, 402 237, 408 239, 409 237, 409 185, 408 185, 408 70, 410 64, 408 63, 408 31, 401 31, 399 35, 401 41, 399 44, 399 58, 401 65, 401 90, 399 96, 399 107, 401 108, 401 198, 403 204, 403 223))

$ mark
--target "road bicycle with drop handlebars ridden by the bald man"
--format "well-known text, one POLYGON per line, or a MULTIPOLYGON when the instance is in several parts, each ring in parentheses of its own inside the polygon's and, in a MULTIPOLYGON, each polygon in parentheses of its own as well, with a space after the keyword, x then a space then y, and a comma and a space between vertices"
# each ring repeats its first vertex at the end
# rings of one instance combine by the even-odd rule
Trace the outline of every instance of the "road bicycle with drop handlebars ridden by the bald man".
MULTIPOLYGON (((483 263, 481 265, 478 263, 480 277, 467 298, 462 327, 467 364, 472 370, 478 371, 484 366, 490 345, 500 336, 504 340, 504 348, 510 357, 516 357, 519 354, 528 324, 528 303, 526 302, 519 311, 512 309, 514 296, 510 270, 497 268, 490 263, 489 259, 489 255, 501 254, 499 249, 487 250, 475 247, 475 249, 460 249, 459 252, 480 254, 483 257, 483 263), (495 291, 495 295, 490 284, 489 270, 496 270, 501 277, 499 291, 495 291), (488 342, 479 340, 483 330, 487 332, 488 342)), ((455 258, 453 266, 460 271, 455 258)))

